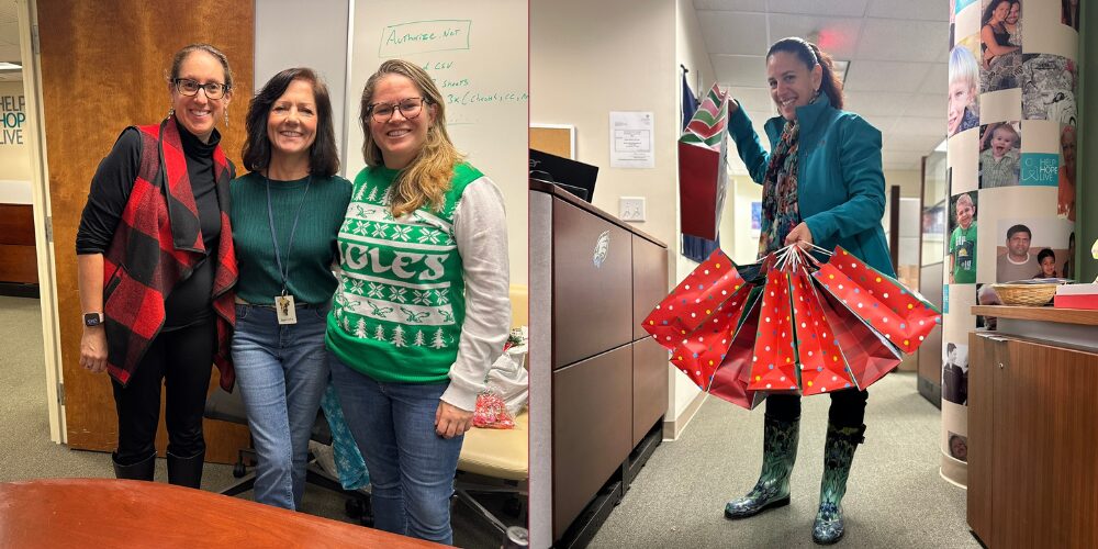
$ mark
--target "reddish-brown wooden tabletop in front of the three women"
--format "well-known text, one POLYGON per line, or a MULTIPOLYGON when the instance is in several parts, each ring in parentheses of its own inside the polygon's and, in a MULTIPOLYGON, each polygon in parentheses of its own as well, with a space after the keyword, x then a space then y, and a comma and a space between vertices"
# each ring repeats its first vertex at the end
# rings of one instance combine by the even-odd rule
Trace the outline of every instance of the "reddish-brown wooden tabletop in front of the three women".
POLYGON ((0 484, 0 547, 441 547, 169 484, 46 479, 0 484))

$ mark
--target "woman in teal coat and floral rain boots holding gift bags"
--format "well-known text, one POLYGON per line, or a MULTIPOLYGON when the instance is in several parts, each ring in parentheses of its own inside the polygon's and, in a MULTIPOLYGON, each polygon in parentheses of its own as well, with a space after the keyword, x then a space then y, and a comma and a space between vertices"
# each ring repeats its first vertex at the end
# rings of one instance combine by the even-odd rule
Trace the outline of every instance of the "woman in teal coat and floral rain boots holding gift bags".
MULTIPOLYGON (((881 132, 842 111, 842 86, 831 56, 802 38, 783 38, 766 54, 771 98, 778 116, 765 124, 768 154, 743 109, 729 103, 729 133, 755 182, 763 186, 759 257, 787 245, 842 246, 870 267, 894 274, 881 220, 884 172, 881 132)), ((813 540, 828 545, 844 533, 842 498, 858 445, 864 441, 864 390, 831 393, 820 503, 813 540)), ((763 467, 755 486, 728 502, 725 516, 746 518, 789 503, 797 456, 800 396, 766 399, 763 467)))

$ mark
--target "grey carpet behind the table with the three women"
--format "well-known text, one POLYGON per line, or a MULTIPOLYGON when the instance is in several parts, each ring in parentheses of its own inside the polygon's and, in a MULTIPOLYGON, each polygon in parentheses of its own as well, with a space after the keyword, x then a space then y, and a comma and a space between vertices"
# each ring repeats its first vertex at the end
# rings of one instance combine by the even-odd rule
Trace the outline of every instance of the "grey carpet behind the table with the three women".
MULTIPOLYGON (((46 376, 42 350, 38 300, 0 295, 0 482, 42 478, 113 478, 111 456, 71 450, 49 441, 46 376)), ((104 380, 105 382, 105 380, 104 380)), ((203 470, 202 489, 219 492, 236 479, 232 466, 210 464, 203 470)), ((167 481, 165 461, 157 460, 157 482, 167 481)), ((251 500, 251 492, 239 497, 251 500)), ((497 516, 503 501, 490 502, 497 516)), ((310 485, 302 512, 354 523, 344 513, 345 497, 310 485)), ((508 519, 509 520, 509 519, 508 519)), ((511 520, 517 524, 515 520, 511 520)), ((461 504, 453 505, 451 524, 458 547, 500 547, 502 536, 461 504)))

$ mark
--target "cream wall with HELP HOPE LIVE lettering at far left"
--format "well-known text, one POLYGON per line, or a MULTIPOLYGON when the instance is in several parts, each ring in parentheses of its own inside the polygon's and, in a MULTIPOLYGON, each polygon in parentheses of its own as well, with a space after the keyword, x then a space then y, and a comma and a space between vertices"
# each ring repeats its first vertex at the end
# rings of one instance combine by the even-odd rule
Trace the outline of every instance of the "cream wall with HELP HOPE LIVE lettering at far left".
POLYGON ((26 144, 23 82, 0 82, 0 203, 31 203, 31 152, 26 144))

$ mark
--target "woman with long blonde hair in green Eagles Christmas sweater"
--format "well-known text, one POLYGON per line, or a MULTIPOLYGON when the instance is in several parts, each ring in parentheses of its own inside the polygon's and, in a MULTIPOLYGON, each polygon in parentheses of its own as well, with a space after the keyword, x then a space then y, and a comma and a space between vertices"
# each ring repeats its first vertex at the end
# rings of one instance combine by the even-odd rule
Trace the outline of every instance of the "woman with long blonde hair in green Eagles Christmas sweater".
POLYGON ((462 436, 511 323, 503 195, 450 142, 418 66, 383 63, 359 120, 367 167, 338 236, 332 380, 376 527, 449 545, 462 436))

